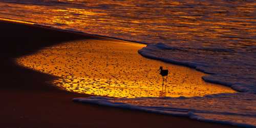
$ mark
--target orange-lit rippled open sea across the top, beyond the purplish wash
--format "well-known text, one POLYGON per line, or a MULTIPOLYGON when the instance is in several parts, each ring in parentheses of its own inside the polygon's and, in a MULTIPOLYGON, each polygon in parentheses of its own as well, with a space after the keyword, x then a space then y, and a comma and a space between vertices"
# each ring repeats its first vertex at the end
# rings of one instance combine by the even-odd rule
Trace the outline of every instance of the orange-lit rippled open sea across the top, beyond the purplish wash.
POLYGON ((244 49, 255 45, 256 4, 252 1, 115 1, 113 4, 113 1, 88 0, 42 6, 50 3, 0 2, 0 16, 181 47, 221 45, 244 49))

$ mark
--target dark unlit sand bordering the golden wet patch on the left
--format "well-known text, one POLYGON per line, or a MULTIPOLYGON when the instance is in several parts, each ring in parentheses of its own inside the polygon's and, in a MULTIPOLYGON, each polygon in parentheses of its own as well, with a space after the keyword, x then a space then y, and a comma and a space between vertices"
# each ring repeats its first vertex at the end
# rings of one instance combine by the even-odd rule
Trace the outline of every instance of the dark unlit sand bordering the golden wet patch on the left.
POLYGON ((0 127, 232 127, 185 117, 74 103, 72 98, 89 95, 59 90, 46 82, 54 76, 17 66, 13 58, 64 41, 100 37, 9 22, 0 22, 0 28, 0 127))

